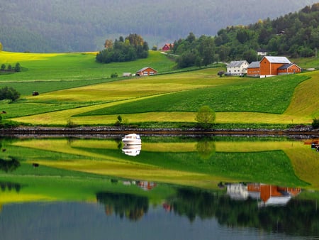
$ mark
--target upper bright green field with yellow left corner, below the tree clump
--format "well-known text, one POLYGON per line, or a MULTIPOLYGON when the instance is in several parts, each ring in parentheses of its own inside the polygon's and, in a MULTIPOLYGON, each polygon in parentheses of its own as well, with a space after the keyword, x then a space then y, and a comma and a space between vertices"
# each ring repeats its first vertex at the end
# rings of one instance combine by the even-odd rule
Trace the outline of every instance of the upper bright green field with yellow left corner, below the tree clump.
POLYGON ((27 71, 12 75, 0 75, 0 82, 48 81, 48 80, 95 80, 111 77, 114 72, 135 73, 150 66, 160 72, 169 72, 175 63, 159 52, 150 51, 149 58, 133 62, 100 64, 95 61, 96 53, 0 53, 0 64, 19 62, 27 71))

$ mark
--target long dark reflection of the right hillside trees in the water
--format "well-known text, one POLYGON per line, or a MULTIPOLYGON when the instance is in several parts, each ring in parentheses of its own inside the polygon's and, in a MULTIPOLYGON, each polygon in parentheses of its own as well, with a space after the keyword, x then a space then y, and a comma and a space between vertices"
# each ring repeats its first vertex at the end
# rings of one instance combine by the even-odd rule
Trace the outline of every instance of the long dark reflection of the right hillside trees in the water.
POLYGON ((233 200, 224 193, 177 189, 176 197, 163 204, 164 209, 188 217, 216 217, 223 225, 255 227, 265 231, 297 236, 318 236, 319 211, 315 201, 291 200, 286 206, 258 207, 251 197, 233 200))

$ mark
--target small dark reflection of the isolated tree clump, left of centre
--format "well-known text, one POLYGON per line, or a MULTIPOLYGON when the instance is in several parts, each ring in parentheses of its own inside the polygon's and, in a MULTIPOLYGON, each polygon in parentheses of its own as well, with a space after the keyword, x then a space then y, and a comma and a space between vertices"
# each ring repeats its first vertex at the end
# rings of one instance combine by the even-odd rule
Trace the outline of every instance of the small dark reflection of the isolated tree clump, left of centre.
POLYGON ((107 215, 114 212, 121 218, 126 217, 133 221, 141 219, 148 211, 147 197, 125 193, 98 192, 96 193, 96 200, 104 204, 107 215))

